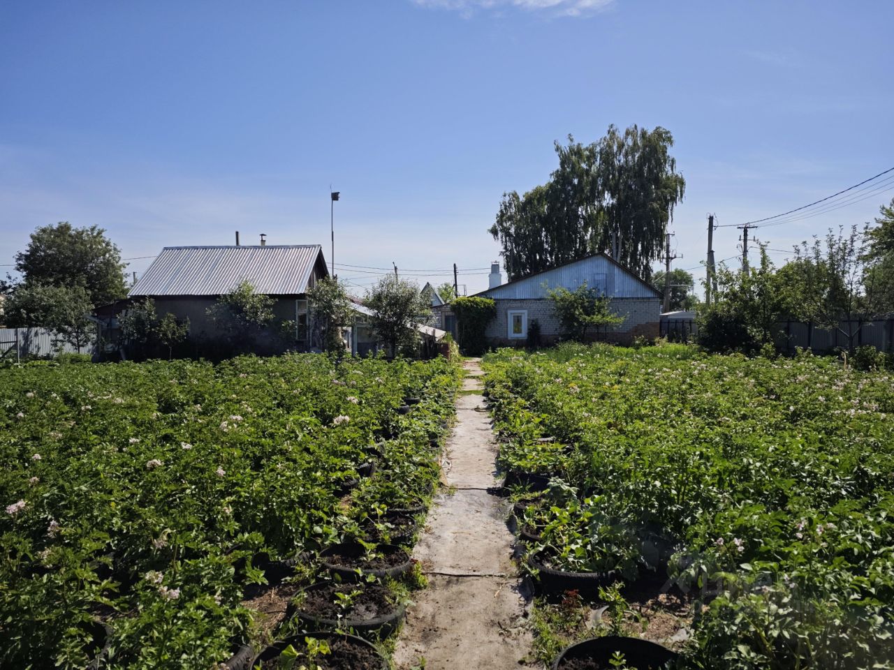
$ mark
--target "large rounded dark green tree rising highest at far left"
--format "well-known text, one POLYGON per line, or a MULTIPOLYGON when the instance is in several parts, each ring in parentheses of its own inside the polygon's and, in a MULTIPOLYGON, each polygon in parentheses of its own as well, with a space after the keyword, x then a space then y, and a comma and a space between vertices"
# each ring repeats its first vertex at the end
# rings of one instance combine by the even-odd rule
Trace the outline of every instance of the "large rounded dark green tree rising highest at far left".
POLYGON ((91 306, 127 294, 121 252, 97 226, 74 228, 68 222, 42 226, 31 233, 28 248, 15 256, 15 264, 23 283, 80 286, 91 306))

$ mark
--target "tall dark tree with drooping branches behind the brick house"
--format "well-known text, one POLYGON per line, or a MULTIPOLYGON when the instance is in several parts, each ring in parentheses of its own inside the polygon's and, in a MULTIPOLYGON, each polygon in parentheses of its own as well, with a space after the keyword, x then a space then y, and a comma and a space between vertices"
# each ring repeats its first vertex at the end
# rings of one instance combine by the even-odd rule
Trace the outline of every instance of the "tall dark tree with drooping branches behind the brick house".
POLYGON ((669 130, 609 126, 583 145, 555 143, 559 166, 543 186, 504 193, 490 228, 510 280, 607 252, 648 278, 686 181, 669 130))

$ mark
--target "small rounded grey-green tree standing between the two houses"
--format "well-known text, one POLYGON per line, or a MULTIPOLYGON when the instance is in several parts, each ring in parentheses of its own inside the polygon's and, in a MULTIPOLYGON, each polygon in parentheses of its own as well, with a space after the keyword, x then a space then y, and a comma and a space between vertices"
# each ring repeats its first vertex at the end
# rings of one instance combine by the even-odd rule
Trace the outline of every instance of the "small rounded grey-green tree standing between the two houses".
POLYGON ((373 329, 392 356, 417 347, 416 324, 431 316, 431 303, 416 283, 387 275, 367 292, 366 306, 373 311, 373 329))

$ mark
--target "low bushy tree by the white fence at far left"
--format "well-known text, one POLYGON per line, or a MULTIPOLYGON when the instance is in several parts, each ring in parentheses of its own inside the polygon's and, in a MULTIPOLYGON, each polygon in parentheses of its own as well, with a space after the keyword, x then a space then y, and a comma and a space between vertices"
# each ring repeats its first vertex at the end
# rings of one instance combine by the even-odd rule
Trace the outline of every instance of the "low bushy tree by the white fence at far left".
POLYGON ((93 305, 87 289, 73 286, 22 283, 4 300, 4 321, 13 328, 46 328, 56 343, 68 342, 80 350, 93 340, 89 319, 93 305))

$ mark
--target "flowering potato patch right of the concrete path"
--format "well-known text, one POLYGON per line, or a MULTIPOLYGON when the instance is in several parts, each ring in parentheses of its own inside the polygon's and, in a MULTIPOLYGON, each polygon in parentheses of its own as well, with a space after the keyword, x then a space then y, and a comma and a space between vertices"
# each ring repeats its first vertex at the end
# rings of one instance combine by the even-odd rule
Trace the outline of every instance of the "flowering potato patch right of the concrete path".
POLYGON ((695 605, 679 666, 894 667, 890 374, 674 345, 485 371, 527 566, 564 606, 666 574, 695 605))

